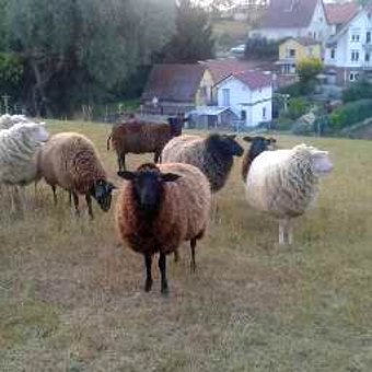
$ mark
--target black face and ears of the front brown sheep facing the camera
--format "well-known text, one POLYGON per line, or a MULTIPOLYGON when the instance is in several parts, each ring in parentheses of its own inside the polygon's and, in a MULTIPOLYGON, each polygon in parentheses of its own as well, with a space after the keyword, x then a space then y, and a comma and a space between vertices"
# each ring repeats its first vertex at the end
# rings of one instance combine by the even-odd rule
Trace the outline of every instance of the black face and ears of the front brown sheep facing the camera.
POLYGON ((179 176, 161 173, 159 168, 144 168, 137 172, 120 171, 118 176, 132 184, 133 197, 139 209, 147 216, 156 214, 164 194, 164 183, 174 182, 179 176))

